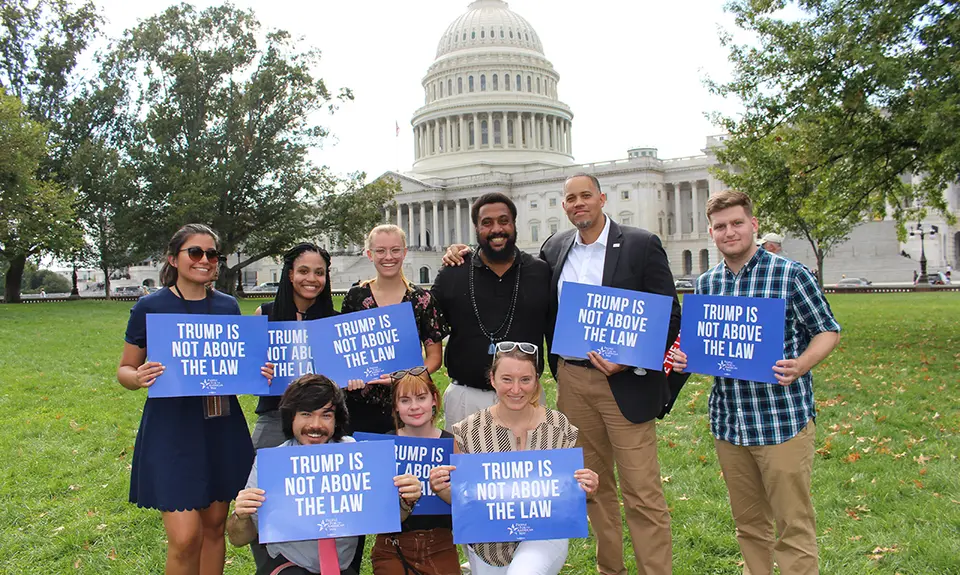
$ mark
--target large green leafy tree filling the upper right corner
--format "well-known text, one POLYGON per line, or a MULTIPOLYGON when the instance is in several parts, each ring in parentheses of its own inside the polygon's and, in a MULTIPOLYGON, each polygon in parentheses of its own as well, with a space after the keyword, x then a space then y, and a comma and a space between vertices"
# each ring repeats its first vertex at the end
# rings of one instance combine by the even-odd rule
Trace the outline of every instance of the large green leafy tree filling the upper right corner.
POLYGON ((960 14, 934 0, 734 0, 733 80, 710 83, 744 105, 714 115, 729 133, 718 177, 747 192, 765 222, 822 260, 865 216, 904 222, 947 211, 960 174, 960 14), (785 19, 783 9, 800 16, 785 19), (921 174, 918 184, 904 175, 921 174))

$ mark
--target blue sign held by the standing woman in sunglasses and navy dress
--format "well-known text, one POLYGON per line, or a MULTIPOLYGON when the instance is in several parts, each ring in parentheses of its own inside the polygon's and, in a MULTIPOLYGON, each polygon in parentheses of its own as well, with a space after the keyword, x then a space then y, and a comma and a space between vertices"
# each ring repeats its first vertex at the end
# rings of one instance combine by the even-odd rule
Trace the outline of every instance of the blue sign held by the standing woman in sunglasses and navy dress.
POLYGON ((166 368, 149 397, 262 395, 267 318, 148 313, 147 359, 166 368))

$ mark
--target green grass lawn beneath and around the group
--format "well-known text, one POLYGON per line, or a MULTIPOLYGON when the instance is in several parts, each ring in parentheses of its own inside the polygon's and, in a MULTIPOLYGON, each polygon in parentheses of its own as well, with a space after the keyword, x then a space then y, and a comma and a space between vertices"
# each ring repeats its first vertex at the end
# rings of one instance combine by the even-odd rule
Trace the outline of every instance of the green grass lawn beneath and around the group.
MULTIPOLYGON (((830 302, 844 335, 815 376, 822 572, 960 573, 960 294, 830 302)), ((114 377, 129 307, 0 306, 0 573, 162 570, 159 514, 127 503, 145 399, 114 377)), ((678 574, 740 572, 709 391, 692 378, 658 430, 678 574)), ((252 424, 254 398, 242 403, 252 424)), ((571 541, 564 573, 595 572, 593 545, 571 541)), ((247 549, 229 548, 227 563, 253 572, 247 549)))

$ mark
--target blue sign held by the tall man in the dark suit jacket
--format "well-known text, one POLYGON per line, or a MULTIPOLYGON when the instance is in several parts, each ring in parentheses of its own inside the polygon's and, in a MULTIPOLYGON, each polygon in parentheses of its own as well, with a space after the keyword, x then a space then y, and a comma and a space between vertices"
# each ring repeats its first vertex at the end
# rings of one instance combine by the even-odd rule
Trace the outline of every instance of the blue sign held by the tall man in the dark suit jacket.
POLYGON ((663 371, 673 298, 563 282, 551 353, 663 371))

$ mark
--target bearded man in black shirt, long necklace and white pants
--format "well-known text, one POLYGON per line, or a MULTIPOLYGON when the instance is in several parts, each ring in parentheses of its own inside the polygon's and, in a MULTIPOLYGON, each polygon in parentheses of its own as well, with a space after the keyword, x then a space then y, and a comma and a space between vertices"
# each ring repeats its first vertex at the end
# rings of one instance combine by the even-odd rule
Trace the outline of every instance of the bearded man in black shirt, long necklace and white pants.
POLYGON ((496 402, 487 371, 497 342, 536 344, 543 371, 550 268, 517 249, 517 207, 504 194, 478 198, 470 217, 479 249, 464 256, 466 265, 441 269, 432 290, 452 328, 444 358, 451 383, 443 395, 447 430, 496 402))

